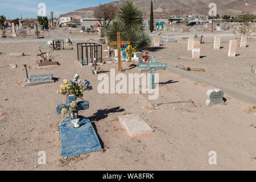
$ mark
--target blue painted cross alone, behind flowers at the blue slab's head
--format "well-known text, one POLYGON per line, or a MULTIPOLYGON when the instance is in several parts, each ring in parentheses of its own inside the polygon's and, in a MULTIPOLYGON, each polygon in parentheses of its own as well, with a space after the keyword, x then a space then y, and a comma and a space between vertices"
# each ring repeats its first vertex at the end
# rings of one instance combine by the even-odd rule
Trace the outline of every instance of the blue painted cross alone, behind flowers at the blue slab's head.
MULTIPOLYGON (((68 100, 67 104, 56 105, 57 114, 61 114, 61 109, 63 108, 66 108, 68 110, 71 109, 71 106, 69 104, 71 104, 72 101, 76 102, 76 96, 67 96, 67 100, 68 100)), ((76 106, 77 115, 78 115, 78 111, 85 110, 85 109, 89 109, 88 101, 77 102, 77 106, 76 106)), ((71 113, 69 113, 69 118, 71 118, 71 113)))

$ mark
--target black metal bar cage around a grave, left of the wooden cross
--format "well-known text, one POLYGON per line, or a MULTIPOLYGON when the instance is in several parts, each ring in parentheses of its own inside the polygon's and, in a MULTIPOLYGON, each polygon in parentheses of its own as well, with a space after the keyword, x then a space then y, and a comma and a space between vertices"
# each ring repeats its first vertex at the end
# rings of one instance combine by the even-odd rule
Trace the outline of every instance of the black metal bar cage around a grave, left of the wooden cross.
POLYGON ((77 43, 77 60, 81 65, 88 65, 93 63, 93 59, 97 63, 102 63, 102 46, 97 43, 77 43))

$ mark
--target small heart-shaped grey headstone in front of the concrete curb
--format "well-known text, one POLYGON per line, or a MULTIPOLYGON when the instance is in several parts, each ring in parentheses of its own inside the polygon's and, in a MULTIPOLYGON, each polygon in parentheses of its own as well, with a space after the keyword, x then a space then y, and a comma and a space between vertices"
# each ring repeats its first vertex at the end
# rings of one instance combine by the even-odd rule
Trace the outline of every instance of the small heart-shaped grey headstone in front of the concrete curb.
POLYGON ((207 101, 205 101, 205 104, 207 106, 210 105, 217 105, 217 104, 223 104, 224 92, 220 89, 210 89, 207 91, 207 101))

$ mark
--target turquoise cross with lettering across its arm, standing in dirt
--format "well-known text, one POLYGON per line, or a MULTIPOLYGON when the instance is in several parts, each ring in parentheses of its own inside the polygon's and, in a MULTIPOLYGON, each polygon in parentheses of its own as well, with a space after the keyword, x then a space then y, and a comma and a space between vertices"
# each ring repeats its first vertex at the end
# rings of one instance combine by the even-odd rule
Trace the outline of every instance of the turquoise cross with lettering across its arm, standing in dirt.
POLYGON ((155 68, 167 68, 167 63, 155 62, 155 56, 151 56, 150 63, 139 63, 138 68, 150 68, 150 88, 155 89, 155 68))

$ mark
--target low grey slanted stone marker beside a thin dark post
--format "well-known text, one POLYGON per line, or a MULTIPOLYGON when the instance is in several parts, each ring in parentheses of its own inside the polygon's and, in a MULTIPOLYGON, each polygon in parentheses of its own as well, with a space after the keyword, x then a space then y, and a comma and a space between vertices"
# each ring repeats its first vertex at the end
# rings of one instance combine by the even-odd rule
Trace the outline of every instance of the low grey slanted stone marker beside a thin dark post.
POLYGON ((52 78, 52 73, 45 75, 31 75, 28 79, 27 86, 50 84, 52 82, 54 82, 54 79, 52 78))

